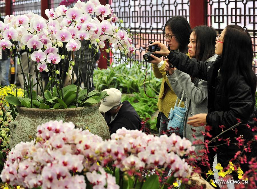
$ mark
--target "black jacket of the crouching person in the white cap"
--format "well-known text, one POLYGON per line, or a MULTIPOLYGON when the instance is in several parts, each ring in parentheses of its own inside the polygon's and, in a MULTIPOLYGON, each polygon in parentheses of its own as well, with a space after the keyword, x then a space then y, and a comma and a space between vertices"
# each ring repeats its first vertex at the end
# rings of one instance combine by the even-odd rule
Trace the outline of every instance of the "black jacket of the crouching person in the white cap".
MULTIPOLYGON (((106 120, 108 120, 108 117, 110 118, 110 115, 108 114, 106 114, 105 116, 106 120)), ((116 133, 116 131, 118 129, 121 129, 122 127, 125 127, 128 130, 140 130, 141 120, 133 106, 127 100, 125 100, 122 103, 122 106, 115 120, 113 120, 108 126, 110 134, 116 133)))

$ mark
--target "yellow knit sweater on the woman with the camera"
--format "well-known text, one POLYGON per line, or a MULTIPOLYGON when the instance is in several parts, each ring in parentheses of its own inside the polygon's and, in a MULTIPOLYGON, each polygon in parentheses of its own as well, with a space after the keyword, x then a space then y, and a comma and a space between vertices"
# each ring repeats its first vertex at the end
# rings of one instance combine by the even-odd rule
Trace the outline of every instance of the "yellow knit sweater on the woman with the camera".
MULTIPOLYGON (((164 71, 164 68, 165 68, 165 63, 160 68, 158 68, 157 65, 152 64, 152 69, 153 69, 155 77, 159 78, 159 79, 162 78, 162 84, 161 84, 161 88, 160 88, 159 98, 161 98, 164 93, 164 82, 166 81, 166 83, 168 84, 167 92, 166 92, 165 96, 162 99, 159 99, 157 102, 157 107, 160 110, 160 112, 163 112, 164 115, 166 117, 168 117, 170 108, 174 107, 177 96, 174 93, 172 87, 170 86, 170 83, 166 76, 166 71, 164 71)), ((178 97, 178 98, 180 98, 180 97, 178 97)), ((181 107, 184 107, 183 102, 181 103, 181 107)))

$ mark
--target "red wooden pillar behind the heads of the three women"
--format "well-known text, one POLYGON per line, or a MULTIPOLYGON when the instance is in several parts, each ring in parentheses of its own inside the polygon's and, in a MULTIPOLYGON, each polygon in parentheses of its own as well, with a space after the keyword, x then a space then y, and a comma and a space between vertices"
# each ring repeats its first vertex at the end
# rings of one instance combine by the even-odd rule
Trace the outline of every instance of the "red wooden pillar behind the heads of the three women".
POLYGON ((189 0, 189 23, 191 28, 205 25, 205 0, 189 0))

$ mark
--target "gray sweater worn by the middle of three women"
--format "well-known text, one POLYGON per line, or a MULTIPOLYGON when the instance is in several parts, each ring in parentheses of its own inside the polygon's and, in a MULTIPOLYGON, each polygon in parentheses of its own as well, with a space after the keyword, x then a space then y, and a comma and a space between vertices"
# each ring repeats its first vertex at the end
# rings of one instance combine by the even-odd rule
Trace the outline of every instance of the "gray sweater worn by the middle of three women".
MULTIPOLYGON (((210 57, 206 61, 214 61, 217 55, 210 57)), ((194 79, 194 83, 191 81, 190 75, 184 73, 178 69, 174 71, 174 73, 168 76, 168 80, 170 85, 178 98, 182 96, 182 90, 184 90, 187 96, 187 111, 186 118, 184 124, 184 137, 186 137, 191 142, 196 140, 204 140, 204 135, 202 132, 205 132, 205 127, 193 127, 187 124, 188 118, 193 115, 200 113, 208 113, 207 109, 207 81, 203 81, 201 79, 194 79), (193 132, 196 130, 196 132, 193 132), (195 135, 195 137, 193 137, 195 135)), ((186 100, 184 97, 183 101, 186 100)), ((204 148, 204 145, 195 144, 195 152, 199 155, 198 151, 204 148)))

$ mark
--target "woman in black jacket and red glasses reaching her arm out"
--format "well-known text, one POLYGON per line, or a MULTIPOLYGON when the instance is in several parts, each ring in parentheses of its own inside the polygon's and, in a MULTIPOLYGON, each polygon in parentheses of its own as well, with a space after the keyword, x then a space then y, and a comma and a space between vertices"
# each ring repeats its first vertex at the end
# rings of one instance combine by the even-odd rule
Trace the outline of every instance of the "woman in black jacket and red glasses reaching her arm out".
MULTIPOLYGON (((244 144, 252 139, 253 132, 246 123, 253 122, 253 118, 256 119, 256 75, 252 70, 253 50, 249 33, 240 26, 228 25, 216 38, 215 54, 220 56, 214 62, 190 59, 180 52, 169 51, 160 42, 154 42, 152 45, 156 44, 161 48, 159 52, 155 52, 156 54, 166 55, 177 69, 207 81, 208 114, 192 116, 188 124, 208 124, 212 126, 212 137, 216 137, 223 130, 240 123, 233 130, 222 133, 219 139, 214 140, 218 163, 226 167, 239 150, 246 155, 248 161, 251 157, 256 157, 256 144, 251 144, 252 152, 246 152, 236 145, 238 137, 245 140, 244 144), (226 143, 225 140, 230 140, 230 145, 222 145, 226 143)), ((256 125, 256 122, 252 124, 256 125)), ((243 171, 248 170, 247 162, 240 167, 243 171)), ((238 179, 237 175, 233 176, 234 180, 238 179)))

